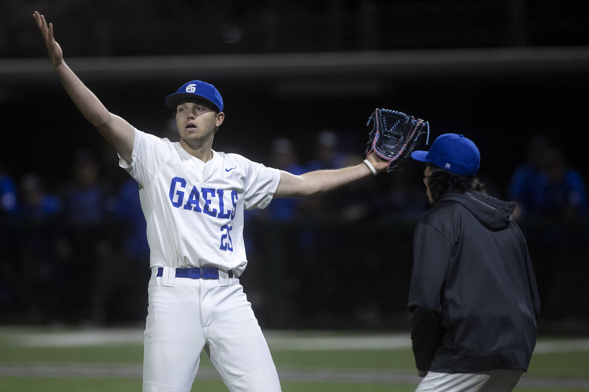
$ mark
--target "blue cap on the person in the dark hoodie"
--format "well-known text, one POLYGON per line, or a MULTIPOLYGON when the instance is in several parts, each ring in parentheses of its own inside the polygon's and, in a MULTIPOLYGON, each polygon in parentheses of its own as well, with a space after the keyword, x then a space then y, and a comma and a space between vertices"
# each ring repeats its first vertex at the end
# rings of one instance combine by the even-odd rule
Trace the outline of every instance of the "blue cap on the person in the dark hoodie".
POLYGON ((462 176, 476 176, 481 163, 481 154, 475 143, 456 133, 438 136, 429 151, 413 151, 411 158, 434 163, 462 176))

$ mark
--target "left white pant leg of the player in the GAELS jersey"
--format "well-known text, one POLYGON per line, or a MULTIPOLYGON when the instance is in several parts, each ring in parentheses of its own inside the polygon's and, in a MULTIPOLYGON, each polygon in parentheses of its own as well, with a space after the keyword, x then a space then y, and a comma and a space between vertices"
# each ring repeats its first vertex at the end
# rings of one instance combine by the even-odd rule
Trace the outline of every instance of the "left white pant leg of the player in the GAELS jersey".
POLYGON ((189 391, 204 347, 198 284, 158 285, 148 293, 143 391, 189 391))

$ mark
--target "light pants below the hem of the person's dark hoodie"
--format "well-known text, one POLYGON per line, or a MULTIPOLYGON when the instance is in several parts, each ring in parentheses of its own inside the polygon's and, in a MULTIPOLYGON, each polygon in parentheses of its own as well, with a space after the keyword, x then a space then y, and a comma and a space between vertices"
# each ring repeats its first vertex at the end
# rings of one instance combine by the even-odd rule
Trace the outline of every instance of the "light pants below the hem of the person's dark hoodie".
POLYGON ((521 378, 521 370, 491 370, 480 373, 428 374, 415 392, 509 392, 521 378))

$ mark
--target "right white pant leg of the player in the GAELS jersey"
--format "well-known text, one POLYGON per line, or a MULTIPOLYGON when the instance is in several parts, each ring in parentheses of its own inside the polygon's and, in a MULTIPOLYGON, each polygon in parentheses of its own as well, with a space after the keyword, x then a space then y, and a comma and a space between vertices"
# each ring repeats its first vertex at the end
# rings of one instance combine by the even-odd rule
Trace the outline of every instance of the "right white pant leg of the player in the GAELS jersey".
POLYGON ((280 392, 266 339, 240 284, 213 287, 217 306, 204 333, 210 359, 231 392, 280 392))

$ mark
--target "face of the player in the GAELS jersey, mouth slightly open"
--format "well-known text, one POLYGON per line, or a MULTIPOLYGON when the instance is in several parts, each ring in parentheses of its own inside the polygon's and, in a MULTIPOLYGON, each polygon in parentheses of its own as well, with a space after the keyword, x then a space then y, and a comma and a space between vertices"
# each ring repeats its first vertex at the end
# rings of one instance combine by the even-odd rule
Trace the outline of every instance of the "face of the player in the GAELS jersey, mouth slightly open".
POLYGON ((216 113, 207 103, 183 100, 176 107, 176 126, 180 139, 195 147, 213 142, 215 129, 223 123, 224 113, 216 113))

